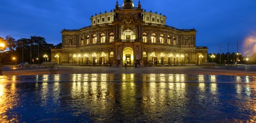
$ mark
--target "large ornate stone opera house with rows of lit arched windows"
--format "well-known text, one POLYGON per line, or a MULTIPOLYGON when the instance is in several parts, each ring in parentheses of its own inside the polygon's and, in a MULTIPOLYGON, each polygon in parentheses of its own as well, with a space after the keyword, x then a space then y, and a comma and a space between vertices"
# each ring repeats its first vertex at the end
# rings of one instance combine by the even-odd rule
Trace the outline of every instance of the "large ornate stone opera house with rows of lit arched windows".
POLYGON ((167 65, 207 61, 207 47, 196 47, 195 29, 165 25, 164 15, 143 11, 140 2, 116 3, 111 12, 91 17, 79 30, 62 30, 62 49, 52 49, 52 61, 80 64, 167 65))

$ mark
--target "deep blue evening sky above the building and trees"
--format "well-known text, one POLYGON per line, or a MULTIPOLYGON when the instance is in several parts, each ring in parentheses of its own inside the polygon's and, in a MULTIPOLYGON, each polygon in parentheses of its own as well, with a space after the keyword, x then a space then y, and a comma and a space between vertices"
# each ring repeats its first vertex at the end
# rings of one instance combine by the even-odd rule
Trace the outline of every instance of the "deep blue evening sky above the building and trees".
MULTIPOLYGON (((138 0, 133 2, 137 5, 138 0)), ((57 44, 62 29, 90 26, 92 15, 109 12, 115 4, 116 0, 0 0, 0 36, 43 36, 57 44)), ((236 52, 237 41, 256 41, 256 0, 141 0, 141 5, 165 15, 166 25, 195 28, 196 45, 208 46, 209 53, 219 52, 222 43, 236 52)))

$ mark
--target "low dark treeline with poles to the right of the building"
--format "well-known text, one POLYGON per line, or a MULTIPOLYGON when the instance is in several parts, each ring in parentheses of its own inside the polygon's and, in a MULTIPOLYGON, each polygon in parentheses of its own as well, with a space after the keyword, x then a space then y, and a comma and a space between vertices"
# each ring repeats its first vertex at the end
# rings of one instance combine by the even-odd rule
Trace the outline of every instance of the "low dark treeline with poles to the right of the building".
MULTIPOLYGON (((221 54, 221 59, 220 59, 220 53, 218 54, 208 54, 208 62, 216 62, 216 63, 227 63, 227 56, 228 56, 228 63, 229 64, 234 64, 238 58, 238 60, 240 60, 238 63, 246 63, 245 59, 246 57, 244 57, 242 54, 241 55, 237 55, 236 53, 222 53, 221 54), (211 56, 214 55, 215 58, 211 58, 211 56), (221 60, 221 62, 220 62, 221 60)), ((253 58, 253 57, 252 57, 253 58)), ((253 60, 251 59, 249 62, 253 62, 253 60)))

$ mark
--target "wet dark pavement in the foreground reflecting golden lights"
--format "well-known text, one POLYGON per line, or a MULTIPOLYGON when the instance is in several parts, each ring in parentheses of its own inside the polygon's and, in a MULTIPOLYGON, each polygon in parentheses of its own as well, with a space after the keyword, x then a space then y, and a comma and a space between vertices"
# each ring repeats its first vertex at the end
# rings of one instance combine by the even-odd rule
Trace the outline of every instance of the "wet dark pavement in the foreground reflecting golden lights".
POLYGON ((1 123, 255 121, 255 76, 0 76, 1 123))

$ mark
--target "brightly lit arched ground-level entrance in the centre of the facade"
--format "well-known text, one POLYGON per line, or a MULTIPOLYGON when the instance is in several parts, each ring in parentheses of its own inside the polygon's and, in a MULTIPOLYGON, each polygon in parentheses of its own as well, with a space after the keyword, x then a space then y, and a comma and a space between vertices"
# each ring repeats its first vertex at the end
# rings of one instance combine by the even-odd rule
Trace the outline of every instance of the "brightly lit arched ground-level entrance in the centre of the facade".
POLYGON ((123 51, 123 64, 125 65, 125 62, 127 62, 127 65, 133 65, 133 50, 130 47, 127 47, 123 51))

